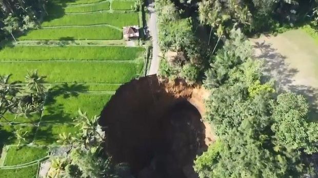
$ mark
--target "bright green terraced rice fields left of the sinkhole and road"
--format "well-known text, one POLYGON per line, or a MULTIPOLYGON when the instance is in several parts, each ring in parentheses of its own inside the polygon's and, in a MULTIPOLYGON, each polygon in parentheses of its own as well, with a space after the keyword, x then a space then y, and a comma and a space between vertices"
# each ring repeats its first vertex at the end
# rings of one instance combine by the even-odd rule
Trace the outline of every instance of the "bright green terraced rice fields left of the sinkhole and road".
POLYGON ((146 74, 146 48, 138 40, 126 47, 123 39, 123 27, 143 27, 136 3, 50 0, 41 28, 2 44, 0 74, 12 74, 8 82, 25 82, 36 70, 45 76, 47 94, 27 117, 7 112, 1 120, 0 177, 37 177, 48 146, 56 145, 61 133, 78 131, 78 109, 100 115, 122 83, 146 74))

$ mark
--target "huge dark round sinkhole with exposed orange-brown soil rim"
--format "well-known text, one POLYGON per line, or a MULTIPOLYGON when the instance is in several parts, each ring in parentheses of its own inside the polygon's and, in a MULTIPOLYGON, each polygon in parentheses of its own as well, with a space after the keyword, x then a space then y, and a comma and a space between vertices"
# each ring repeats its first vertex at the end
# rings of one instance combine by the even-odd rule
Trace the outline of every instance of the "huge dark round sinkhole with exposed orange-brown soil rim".
POLYGON ((116 163, 126 162, 138 178, 197 177, 197 154, 214 141, 205 112, 203 88, 181 81, 159 82, 148 76, 118 88, 105 106, 105 151, 116 163))

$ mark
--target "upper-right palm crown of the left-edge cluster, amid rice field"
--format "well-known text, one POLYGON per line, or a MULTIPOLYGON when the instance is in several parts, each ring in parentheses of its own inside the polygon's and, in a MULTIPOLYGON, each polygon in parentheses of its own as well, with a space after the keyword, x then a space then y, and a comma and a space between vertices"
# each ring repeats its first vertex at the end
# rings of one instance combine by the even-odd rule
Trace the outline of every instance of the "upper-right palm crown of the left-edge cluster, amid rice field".
POLYGON ((43 83, 45 82, 44 79, 46 77, 45 76, 39 76, 37 74, 37 70, 34 71, 29 71, 27 76, 25 77, 26 81, 27 81, 27 86, 28 86, 28 90, 35 92, 36 95, 38 96, 42 96, 44 94, 45 91, 45 87, 43 85, 43 83))

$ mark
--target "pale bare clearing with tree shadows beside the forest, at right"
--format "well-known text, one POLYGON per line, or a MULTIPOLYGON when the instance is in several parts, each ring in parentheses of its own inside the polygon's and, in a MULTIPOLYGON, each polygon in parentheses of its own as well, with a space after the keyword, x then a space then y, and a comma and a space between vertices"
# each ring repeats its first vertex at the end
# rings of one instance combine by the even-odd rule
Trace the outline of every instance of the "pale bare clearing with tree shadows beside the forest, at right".
POLYGON ((318 109, 318 44, 304 31, 251 38, 255 57, 264 61, 265 74, 276 80, 277 90, 304 95, 316 118, 318 109))

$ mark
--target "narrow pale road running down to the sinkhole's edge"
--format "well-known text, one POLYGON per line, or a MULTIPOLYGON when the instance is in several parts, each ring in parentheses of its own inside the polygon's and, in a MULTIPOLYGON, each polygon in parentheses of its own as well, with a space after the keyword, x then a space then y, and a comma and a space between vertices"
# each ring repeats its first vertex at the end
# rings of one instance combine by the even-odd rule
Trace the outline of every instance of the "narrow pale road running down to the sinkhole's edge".
POLYGON ((149 2, 149 5, 147 8, 150 13, 148 26, 150 30, 150 35, 152 36, 152 60, 151 60, 150 69, 147 75, 153 75, 153 74, 157 74, 159 70, 160 58, 158 57, 158 55, 160 52, 160 48, 158 45, 157 16, 155 14, 154 2, 152 0, 148 0, 148 2, 149 2))

